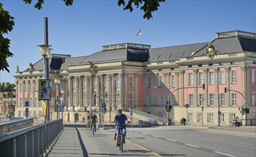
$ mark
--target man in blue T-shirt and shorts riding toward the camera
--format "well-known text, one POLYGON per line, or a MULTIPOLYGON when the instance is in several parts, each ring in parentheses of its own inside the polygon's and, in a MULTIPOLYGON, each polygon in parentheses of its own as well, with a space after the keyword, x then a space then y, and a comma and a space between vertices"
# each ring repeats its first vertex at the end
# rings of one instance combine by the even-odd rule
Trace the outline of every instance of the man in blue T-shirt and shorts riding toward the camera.
POLYGON ((125 143, 125 136, 126 136, 126 128, 125 125, 128 125, 128 119, 125 114, 122 113, 122 109, 118 108, 118 114, 115 115, 115 141, 116 141, 116 146, 118 147, 118 129, 119 127, 123 126, 122 133, 123 133, 123 143, 125 143))

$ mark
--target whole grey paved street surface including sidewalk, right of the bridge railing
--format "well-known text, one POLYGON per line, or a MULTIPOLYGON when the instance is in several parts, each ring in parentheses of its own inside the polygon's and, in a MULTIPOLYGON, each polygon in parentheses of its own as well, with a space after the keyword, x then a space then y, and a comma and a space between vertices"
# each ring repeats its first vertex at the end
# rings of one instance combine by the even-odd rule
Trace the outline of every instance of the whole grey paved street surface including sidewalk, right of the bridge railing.
POLYGON ((256 156, 255 132, 189 126, 128 128, 121 153, 114 129, 65 127, 47 156, 256 156))

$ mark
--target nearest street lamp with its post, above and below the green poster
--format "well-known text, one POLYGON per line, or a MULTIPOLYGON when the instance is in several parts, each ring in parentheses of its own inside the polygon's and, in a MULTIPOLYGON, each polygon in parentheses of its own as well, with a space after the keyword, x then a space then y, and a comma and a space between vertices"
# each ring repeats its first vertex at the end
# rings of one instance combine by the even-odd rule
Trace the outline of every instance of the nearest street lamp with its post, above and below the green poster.
MULTIPOLYGON (((49 45, 39 45, 39 52, 44 60, 44 79, 49 79, 49 59, 48 57, 51 55, 51 51, 49 50, 49 45)), ((49 120, 49 100, 47 100, 47 121, 49 120)))

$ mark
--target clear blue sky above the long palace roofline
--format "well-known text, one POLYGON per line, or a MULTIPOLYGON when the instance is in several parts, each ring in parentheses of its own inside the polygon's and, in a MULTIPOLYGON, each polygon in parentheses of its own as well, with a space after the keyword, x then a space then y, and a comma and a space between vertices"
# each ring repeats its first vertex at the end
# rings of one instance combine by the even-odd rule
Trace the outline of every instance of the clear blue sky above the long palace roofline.
POLYGON ((153 12, 153 19, 143 19, 143 11, 123 11, 118 0, 74 0, 65 6, 62 0, 44 0, 41 10, 37 0, 0 0, 4 10, 14 17, 14 29, 4 36, 11 40, 9 70, 0 71, 0 82, 15 83, 19 71, 42 59, 38 45, 44 44, 44 17, 48 18, 49 45, 52 54, 87 56, 101 51, 101 46, 121 43, 148 44, 151 48, 209 42, 222 31, 256 33, 256 0, 166 0, 153 12), (138 30, 141 36, 136 36, 138 30))

